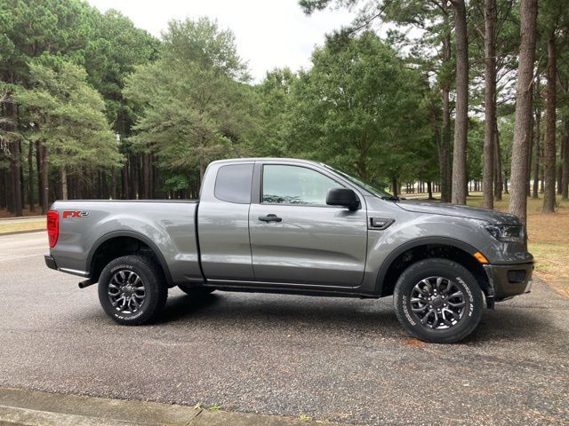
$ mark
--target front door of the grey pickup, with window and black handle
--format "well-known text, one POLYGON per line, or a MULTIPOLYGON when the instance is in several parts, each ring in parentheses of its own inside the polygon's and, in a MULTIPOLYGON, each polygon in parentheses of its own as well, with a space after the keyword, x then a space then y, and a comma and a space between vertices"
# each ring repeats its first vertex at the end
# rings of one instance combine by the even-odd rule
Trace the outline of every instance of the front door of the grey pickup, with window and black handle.
POLYGON ((328 190, 346 185, 309 163, 257 162, 255 175, 259 196, 249 209, 255 279, 358 286, 367 246, 364 198, 356 211, 326 205, 328 190))

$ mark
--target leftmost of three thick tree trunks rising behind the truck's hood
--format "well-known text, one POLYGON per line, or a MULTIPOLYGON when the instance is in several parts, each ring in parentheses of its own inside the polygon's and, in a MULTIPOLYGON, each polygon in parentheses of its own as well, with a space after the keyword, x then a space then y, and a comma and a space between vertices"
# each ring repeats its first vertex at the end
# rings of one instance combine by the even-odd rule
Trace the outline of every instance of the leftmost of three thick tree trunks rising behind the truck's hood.
POLYGON ((469 45, 464 0, 451 0, 456 49, 456 106, 454 108, 453 194, 455 204, 466 204, 466 147, 469 130, 469 45))

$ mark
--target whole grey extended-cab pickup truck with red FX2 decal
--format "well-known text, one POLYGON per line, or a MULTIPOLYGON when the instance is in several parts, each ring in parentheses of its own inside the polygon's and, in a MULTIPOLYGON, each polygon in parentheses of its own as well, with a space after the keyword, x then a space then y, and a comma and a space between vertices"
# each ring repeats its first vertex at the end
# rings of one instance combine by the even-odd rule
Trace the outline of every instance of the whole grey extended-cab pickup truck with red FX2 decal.
POLYGON ((168 288, 394 296, 412 335, 453 343, 484 306, 529 291, 533 256, 517 217, 405 201, 325 164, 212 162, 199 201, 56 201, 52 269, 99 282, 116 322, 156 318, 168 288))

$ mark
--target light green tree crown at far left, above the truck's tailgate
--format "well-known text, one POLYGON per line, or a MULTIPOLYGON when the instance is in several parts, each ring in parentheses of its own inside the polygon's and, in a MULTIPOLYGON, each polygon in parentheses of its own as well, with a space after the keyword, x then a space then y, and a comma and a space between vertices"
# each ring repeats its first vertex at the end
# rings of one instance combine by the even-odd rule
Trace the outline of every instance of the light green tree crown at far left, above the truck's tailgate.
POLYGON ((26 137, 43 139, 56 167, 117 166, 116 138, 108 129, 100 93, 87 83, 82 67, 52 62, 52 67, 31 63, 31 88, 15 95, 30 122, 26 137))

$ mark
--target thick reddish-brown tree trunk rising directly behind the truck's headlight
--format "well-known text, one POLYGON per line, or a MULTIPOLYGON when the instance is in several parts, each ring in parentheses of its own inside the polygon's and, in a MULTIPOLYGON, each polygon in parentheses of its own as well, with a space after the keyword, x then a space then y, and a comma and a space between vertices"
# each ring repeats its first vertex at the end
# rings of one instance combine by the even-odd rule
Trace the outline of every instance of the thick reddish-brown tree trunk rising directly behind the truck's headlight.
POLYGON ((535 61, 535 29, 537 0, 520 1, 520 45, 517 68, 516 121, 512 141, 512 160, 509 186, 509 212, 523 224, 527 217, 525 185, 529 170, 527 156, 532 137, 532 83, 535 61))

